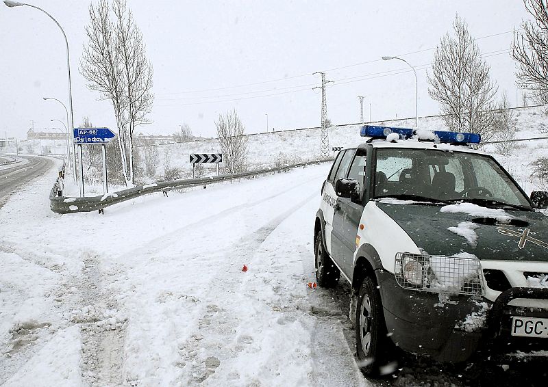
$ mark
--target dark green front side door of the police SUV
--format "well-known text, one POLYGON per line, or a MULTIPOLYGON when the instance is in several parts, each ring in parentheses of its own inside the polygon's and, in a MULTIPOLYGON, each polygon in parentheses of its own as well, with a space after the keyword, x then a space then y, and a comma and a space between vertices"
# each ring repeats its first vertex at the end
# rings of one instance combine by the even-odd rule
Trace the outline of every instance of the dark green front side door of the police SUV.
POLYGON ((362 198, 365 186, 365 163, 366 154, 364 150, 358 150, 352 157, 348 172, 341 174, 338 178, 352 178, 360 185, 359 200, 353 202, 349 198, 337 198, 333 215, 333 241, 336 255, 340 260, 339 267, 349 277, 352 272, 354 252, 356 251, 356 238, 358 237, 358 224, 362 217, 364 206, 362 198))

